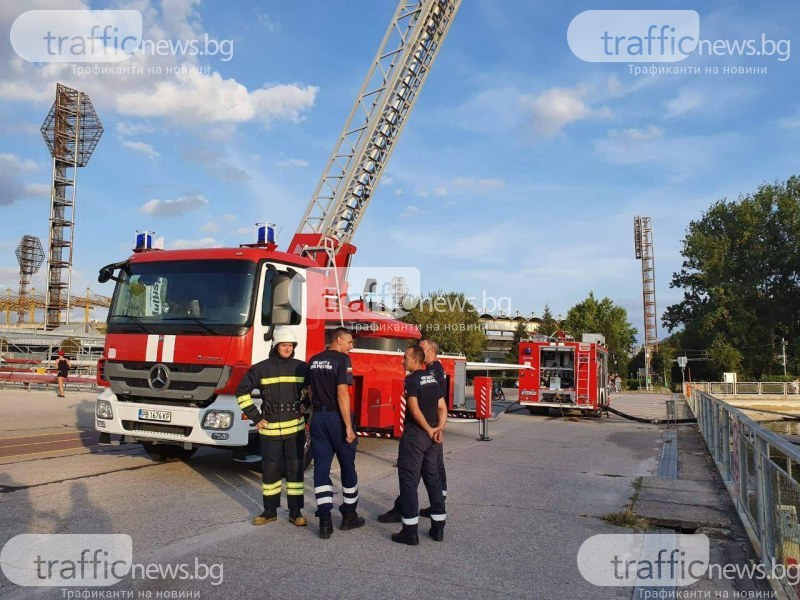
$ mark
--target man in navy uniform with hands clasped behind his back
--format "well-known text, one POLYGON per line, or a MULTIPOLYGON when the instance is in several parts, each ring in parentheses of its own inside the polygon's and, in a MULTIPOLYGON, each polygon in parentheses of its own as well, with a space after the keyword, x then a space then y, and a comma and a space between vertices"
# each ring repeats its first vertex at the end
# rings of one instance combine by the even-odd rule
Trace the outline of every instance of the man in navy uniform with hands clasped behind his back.
POLYGON ((405 380, 406 418, 400 449, 397 453, 397 476, 400 480, 400 514, 403 529, 392 534, 392 541, 416 546, 419 544, 420 477, 431 502, 431 528, 428 531, 437 542, 444 539, 445 514, 442 484, 436 446, 444 439, 447 405, 439 382, 424 370, 425 352, 419 346, 406 350, 403 364, 409 375, 405 380))

